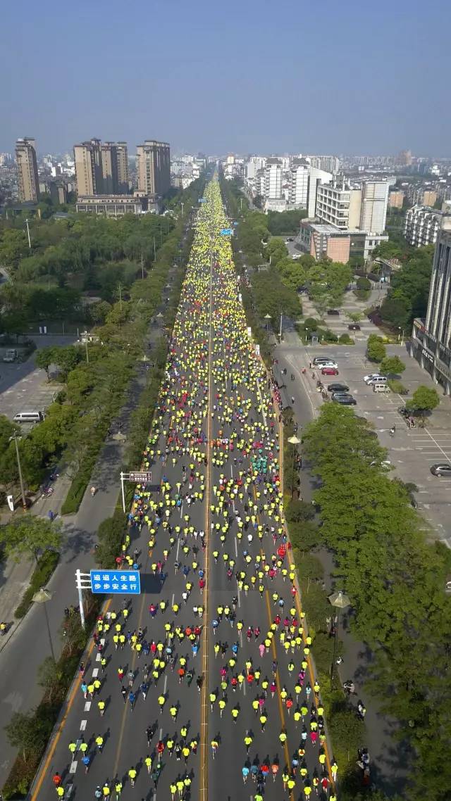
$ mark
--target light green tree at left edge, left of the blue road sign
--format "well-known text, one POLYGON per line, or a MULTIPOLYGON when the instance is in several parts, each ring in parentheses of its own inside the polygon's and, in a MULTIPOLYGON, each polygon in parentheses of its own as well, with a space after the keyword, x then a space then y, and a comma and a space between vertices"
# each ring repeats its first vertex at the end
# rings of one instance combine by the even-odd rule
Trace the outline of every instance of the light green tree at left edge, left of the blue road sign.
POLYGON ((0 529, 0 543, 7 556, 17 562, 23 554, 36 559, 39 553, 49 549, 59 549, 62 542, 62 525, 51 522, 46 517, 26 514, 16 517, 0 529))

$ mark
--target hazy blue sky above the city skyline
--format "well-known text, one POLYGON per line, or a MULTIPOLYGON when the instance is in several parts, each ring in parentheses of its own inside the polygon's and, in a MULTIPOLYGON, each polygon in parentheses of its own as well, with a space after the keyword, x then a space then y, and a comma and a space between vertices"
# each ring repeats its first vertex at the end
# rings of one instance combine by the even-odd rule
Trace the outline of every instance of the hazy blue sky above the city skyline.
POLYGON ((451 156, 448 0, 21 0, 0 15, 0 151, 451 156))

